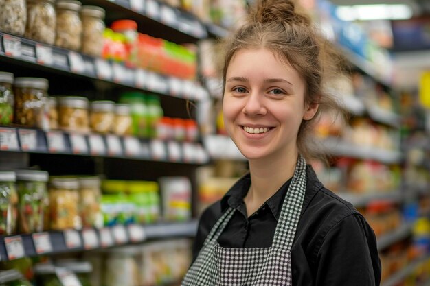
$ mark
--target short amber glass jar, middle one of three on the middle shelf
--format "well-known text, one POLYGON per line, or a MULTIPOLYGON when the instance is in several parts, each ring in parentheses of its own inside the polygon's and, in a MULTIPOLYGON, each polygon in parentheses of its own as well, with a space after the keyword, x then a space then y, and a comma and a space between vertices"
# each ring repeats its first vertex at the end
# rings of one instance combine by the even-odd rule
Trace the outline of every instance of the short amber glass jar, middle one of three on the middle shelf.
POLYGON ((109 133, 112 129, 115 102, 99 100, 91 102, 91 130, 98 133, 109 133))

